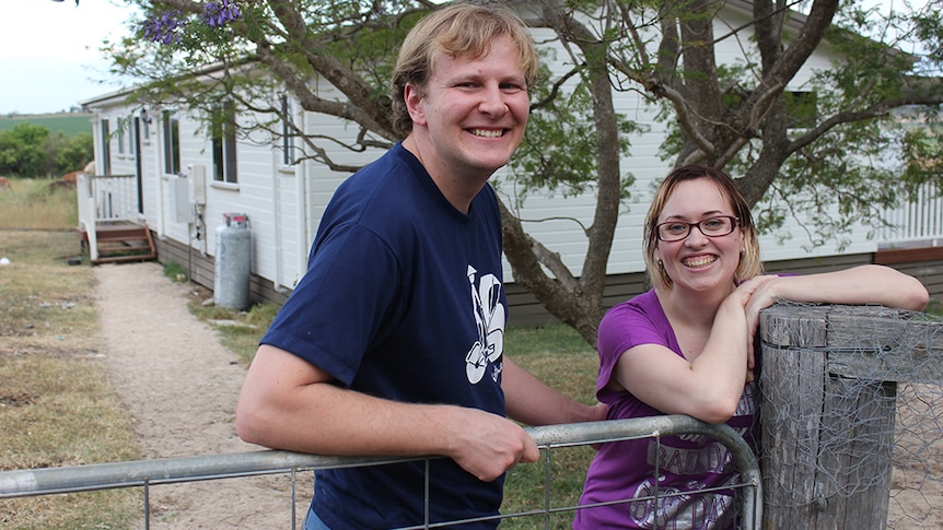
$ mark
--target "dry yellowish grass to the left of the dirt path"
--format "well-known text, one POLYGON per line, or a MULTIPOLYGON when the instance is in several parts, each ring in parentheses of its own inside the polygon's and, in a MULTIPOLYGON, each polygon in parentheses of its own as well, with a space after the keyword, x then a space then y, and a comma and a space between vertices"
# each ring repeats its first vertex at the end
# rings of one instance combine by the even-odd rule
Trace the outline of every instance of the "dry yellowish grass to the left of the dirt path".
MULTIPOLYGON (((93 271, 66 260, 78 249, 68 225, 0 228, 0 470, 140 458, 98 360, 93 271)), ((129 490, 3 499, 0 527, 128 528, 140 513, 129 490)))

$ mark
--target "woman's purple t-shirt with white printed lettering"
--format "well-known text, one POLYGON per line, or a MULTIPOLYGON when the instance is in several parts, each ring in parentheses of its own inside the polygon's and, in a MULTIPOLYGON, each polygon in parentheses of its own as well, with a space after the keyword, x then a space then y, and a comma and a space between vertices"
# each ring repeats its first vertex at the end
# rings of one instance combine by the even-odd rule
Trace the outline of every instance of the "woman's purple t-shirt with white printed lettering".
MULTIPOLYGON (((599 377, 596 397, 609 407, 609 420, 663 415, 628 391, 606 388, 624 352, 639 344, 661 344, 679 356, 674 330, 654 291, 614 306, 599 323, 599 377)), ((746 385, 736 413, 727 421, 753 444, 754 385, 746 385)), ((581 508, 573 528, 715 530, 735 527, 732 490, 697 495, 692 490, 723 487, 736 483, 740 473, 730 451, 701 435, 663 436, 604 444, 586 475, 581 505, 649 497, 657 500, 581 508), (654 476, 655 464, 660 475, 654 476), (657 480, 657 483, 655 483, 657 480), (677 494, 677 495, 676 495, 677 494)))

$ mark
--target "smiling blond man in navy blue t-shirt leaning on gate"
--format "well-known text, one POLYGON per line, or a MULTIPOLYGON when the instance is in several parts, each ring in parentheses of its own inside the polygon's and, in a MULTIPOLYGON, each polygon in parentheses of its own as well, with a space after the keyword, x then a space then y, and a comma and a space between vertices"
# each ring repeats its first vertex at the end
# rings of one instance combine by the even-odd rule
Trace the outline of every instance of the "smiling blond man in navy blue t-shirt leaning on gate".
MULTIPOLYGON (((456 4, 406 37, 394 118, 407 133, 331 199, 308 271, 261 340, 240 436, 321 455, 441 455, 430 521, 494 516, 522 427, 595 421, 503 355, 501 220, 490 176, 521 142, 537 72, 504 10, 456 4)), ((317 473, 305 528, 421 525, 424 464, 317 473)), ((494 528, 498 521, 462 528, 494 528)))

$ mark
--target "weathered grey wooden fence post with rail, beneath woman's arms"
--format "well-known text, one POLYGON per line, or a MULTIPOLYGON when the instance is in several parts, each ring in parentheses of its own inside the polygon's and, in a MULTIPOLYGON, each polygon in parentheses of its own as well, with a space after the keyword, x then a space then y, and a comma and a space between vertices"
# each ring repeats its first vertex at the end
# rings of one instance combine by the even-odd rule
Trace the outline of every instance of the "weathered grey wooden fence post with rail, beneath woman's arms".
POLYGON ((897 381, 943 381, 940 321, 883 306, 760 314, 767 530, 885 528, 897 381))

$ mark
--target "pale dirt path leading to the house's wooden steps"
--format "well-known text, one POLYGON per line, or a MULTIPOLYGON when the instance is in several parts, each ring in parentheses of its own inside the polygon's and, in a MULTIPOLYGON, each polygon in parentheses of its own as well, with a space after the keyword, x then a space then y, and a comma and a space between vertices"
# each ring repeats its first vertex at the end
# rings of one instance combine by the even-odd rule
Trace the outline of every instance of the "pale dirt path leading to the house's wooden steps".
MULTIPOLYGON (((245 368, 187 309, 191 286, 156 263, 95 267, 105 352, 143 458, 258 450, 233 422, 245 368)), ((310 473, 299 485, 299 526, 310 473)), ((152 486, 152 529, 290 529, 287 475, 152 486)), ((143 520, 139 528, 143 528, 143 520)))

